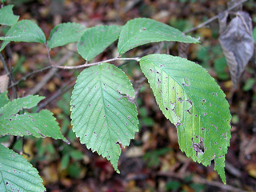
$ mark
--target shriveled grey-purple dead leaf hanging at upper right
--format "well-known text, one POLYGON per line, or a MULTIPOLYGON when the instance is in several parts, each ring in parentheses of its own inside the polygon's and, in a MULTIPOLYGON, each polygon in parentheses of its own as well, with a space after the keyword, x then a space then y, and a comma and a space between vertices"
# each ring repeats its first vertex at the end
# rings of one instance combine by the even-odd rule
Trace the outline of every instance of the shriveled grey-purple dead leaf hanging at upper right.
POLYGON ((250 15, 244 11, 235 13, 236 17, 226 26, 228 12, 219 14, 220 37, 228 63, 234 88, 238 86, 239 78, 247 63, 254 54, 254 38, 250 15))

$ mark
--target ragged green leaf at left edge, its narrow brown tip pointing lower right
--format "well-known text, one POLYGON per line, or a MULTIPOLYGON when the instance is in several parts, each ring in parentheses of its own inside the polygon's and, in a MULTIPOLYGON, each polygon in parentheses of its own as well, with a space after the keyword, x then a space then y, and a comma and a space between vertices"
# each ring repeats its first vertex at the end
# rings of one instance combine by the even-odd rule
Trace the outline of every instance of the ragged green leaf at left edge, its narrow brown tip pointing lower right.
POLYGON ((58 122, 49 110, 41 110, 37 114, 16 114, 6 118, 0 117, 0 135, 6 134, 33 135, 37 138, 51 137, 69 143, 62 135, 58 122))

